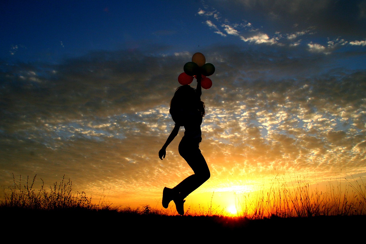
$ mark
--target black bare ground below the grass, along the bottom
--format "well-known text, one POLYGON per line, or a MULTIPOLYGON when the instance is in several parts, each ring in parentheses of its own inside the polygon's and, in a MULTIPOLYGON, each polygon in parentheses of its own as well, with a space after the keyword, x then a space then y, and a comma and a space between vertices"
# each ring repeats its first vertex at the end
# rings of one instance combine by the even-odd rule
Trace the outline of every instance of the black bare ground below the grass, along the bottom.
MULTIPOLYGON (((219 216, 166 216, 116 211, 0 209, 3 238, 155 243, 217 241, 309 243, 356 241, 366 236, 366 215, 249 220, 219 216), (13 238, 12 238, 13 237, 13 238)), ((44 241, 41 241, 43 243, 44 241)), ((58 242, 58 241, 57 241, 58 242)))

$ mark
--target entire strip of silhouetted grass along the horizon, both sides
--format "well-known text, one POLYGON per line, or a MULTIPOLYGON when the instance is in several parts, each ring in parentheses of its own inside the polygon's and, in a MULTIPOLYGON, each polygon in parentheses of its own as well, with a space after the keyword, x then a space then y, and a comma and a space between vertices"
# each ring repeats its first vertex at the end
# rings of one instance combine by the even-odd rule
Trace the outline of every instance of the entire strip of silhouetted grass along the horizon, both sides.
MULTIPOLYGON (((1 200, 1 208, 18 208, 26 210, 111 210, 126 214, 154 214, 175 215, 175 209, 161 210, 150 205, 141 205, 137 208, 116 207, 107 202, 107 197, 102 194, 98 204, 91 202, 85 192, 72 193, 72 182, 63 179, 47 190, 42 180, 41 189, 33 189, 34 181, 27 177, 22 184, 22 178, 14 185, 4 190, 4 199, 1 200)), ((213 195, 212 195, 213 197, 213 195)), ((347 180, 347 184, 341 184, 337 180, 334 185, 328 182, 326 190, 319 191, 318 185, 311 188, 309 181, 305 179, 288 183, 284 177, 277 174, 268 189, 260 189, 246 195, 236 197, 238 208, 237 217, 246 219, 264 219, 273 216, 288 217, 314 217, 314 216, 350 216, 366 214, 366 184, 362 178, 347 180)), ((208 207, 199 206, 197 210, 187 206, 186 215, 190 216, 225 216, 224 209, 214 207, 211 202, 208 207)))

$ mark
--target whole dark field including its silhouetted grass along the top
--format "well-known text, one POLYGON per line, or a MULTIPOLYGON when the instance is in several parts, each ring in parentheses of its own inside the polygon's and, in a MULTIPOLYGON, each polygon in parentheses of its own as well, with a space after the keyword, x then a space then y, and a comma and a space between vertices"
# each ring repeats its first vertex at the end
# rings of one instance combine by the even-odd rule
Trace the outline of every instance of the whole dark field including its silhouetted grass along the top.
MULTIPOLYGON (((133 236, 149 239, 152 236, 171 238, 196 236, 197 239, 217 239, 262 234, 285 235, 286 238, 318 240, 347 240, 363 232, 366 221, 365 183, 354 179, 341 188, 330 185, 328 191, 311 190, 309 184, 297 181, 288 186, 275 177, 268 191, 243 196, 237 216, 225 216, 215 209, 188 209, 186 215, 157 210, 149 205, 138 208, 117 207, 102 198, 91 203, 85 192, 72 193, 70 180, 63 179, 49 189, 33 189, 33 180, 25 184, 15 181, 4 188, 1 216, 4 233, 23 236, 38 233, 44 238, 68 236, 72 232, 79 240, 103 240, 111 236, 133 236), (320 236, 319 236, 320 235, 320 236)), ((239 199, 238 199, 239 200, 239 199)), ((269 237, 269 236, 268 236, 269 237)), ((264 239, 263 239, 264 240, 264 239)))

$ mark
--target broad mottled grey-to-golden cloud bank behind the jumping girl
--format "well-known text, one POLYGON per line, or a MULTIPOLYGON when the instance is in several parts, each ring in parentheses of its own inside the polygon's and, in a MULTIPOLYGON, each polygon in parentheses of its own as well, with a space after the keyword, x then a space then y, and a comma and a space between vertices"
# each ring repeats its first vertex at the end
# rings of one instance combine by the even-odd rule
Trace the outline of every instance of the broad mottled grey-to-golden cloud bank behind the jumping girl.
MULTIPOLYGON (((365 70, 325 69, 352 53, 278 45, 202 52, 216 72, 202 95, 200 148, 212 178, 200 191, 273 169, 315 170, 322 179, 339 169, 364 172, 365 70)), ((164 161, 157 152, 173 128, 169 101, 192 54, 100 51, 59 65, 2 63, 1 182, 14 172, 52 184, 62 172, 84 191, 109 186, 116 196, 178 183, 192 173, 177 151, 183 130, 164 161)))

